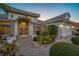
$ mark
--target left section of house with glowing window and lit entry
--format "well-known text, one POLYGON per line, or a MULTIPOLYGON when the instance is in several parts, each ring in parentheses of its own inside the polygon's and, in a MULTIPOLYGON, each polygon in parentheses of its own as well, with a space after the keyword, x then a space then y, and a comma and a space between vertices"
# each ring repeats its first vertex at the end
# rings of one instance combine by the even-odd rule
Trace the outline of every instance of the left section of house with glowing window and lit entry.
MULTIPOLYGON (((0 4, 0 33, 2 36, 34 36, 40 14, 0 4)), ((9 37, 8 37, 9 38, 9 37)))

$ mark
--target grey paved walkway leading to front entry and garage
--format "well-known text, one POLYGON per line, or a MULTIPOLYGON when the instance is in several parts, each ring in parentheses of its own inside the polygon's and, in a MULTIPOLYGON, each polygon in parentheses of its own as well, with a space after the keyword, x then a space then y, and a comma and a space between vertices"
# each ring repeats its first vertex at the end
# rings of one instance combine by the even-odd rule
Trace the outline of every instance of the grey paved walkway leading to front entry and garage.
MULTIPOLYGON (((56 42, 69 42, 70 37, 63 38, 61 40, 57 40, 56 42)), ((36 46, 33 44, 31 37, 19 37, 17 39, 17 43, 20 47, 20 55, 23 56, 49 56, 49 49, 50 47, 55 44, 56 42, 44 45, 44 46, 36 46)))

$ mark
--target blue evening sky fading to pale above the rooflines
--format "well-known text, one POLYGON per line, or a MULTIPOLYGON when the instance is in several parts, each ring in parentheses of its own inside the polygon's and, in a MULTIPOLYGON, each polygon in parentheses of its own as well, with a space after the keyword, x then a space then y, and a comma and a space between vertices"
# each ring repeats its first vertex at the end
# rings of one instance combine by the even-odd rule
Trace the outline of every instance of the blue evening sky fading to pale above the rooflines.
POLYGON ((70 20, 79 22, 78 3, 11 3, 9 5, 25 11, 40 14, 38 19, 43 21, 69 12, 71 15, 70 20))

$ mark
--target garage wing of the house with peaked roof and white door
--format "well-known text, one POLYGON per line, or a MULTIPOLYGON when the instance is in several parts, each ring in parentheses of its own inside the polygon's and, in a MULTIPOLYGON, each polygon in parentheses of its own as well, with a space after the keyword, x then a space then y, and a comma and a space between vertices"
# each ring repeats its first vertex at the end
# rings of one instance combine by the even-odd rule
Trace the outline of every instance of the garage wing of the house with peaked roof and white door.
POLYGON ((40 22, 39 25, 48 26, 48 25, 56 25, 58 28, 57 38, 67 37, 72 35, 72 22, 70 21, 70 14, 68 12, 48 19, 44 22, 40 22), (43 23, 43 24, 41 24, 43 23))

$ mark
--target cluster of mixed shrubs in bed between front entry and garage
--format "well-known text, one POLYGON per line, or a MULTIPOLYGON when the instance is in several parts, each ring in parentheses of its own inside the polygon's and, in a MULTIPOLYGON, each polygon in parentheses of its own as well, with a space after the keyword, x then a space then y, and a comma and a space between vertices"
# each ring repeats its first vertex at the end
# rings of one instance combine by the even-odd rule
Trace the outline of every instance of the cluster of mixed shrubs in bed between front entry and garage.
POLYGON ((56 25, 49 25, 45 27, 45 30, 39 31, 37 30, 37 36, 33 38, 34 42, 38 42, 39 45, 51 44, 55 41, 57 36, 57 26, 56 25))

